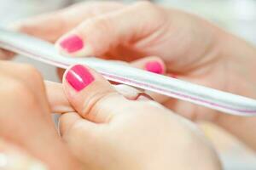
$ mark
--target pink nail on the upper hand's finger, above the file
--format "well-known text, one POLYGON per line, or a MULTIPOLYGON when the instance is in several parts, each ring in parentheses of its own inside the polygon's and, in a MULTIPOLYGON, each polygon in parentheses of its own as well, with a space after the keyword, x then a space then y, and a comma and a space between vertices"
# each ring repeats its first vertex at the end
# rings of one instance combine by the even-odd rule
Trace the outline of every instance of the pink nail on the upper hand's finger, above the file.
POLYGON ((60 42, 60 45, 61 48, 66 50, 68 53, 73 53, 79 51, 81 48, 84 48, 83 40, 76 35, 66 37, 60 42))

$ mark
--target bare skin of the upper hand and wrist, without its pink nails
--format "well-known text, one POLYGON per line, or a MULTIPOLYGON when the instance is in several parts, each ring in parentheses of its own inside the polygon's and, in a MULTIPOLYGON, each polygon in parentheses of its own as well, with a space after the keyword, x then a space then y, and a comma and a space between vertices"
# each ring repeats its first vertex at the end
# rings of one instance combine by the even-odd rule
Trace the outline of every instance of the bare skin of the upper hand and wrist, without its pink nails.
MULTIPOLYGON (((144 59, 155 56, 154 59, 165 62, 167 76, 175 75, 185 81, 256 98, 255 48, 206 20, 173 8, 148 2, 79 3, 20 21, 13 27, 55 42, 61 54, 118 59, 139 68, 147 62, 144 59), (60 42, 74 34, 82 38, 85 45, 68 54, 60 42), (139 65, 134 64, 137 61, 139 65)), ((256 149, 256 134, 247 130, 254 127, 256 118, 228 116, 159 94, 148 94, 193 121, 210 121, 224 127, 256 149)))

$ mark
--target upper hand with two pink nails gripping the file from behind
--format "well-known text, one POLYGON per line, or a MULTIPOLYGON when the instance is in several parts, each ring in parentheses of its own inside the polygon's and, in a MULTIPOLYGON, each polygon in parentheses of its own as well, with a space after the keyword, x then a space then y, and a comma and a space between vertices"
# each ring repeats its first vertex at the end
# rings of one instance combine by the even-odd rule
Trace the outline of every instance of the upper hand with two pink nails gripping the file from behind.
MULTIPOLYGON (((223 72, 230 74, 224 67, 226 58, 219 56, 224 31, 176 9, 148 2, 79 3, 21 21, 15 28, 55 42, 62 54, 132 62, 148 71, 230 91, 223 76, 223 72), (159 57, 144 58, 148 56, 159 57)), ((216 119, 211 110, 151 95, 190 119, 216 119)))

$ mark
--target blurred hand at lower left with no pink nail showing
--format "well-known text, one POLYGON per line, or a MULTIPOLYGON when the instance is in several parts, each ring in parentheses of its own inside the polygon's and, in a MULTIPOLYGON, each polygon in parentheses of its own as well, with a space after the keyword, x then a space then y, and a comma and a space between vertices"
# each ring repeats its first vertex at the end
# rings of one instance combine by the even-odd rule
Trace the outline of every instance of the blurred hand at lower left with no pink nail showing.
POLYGON ((38 71, 30 65, 1 61, 0 82, 1 139, 43 161, 49 169, 79 169, 79 162, 55 130, 38 71))

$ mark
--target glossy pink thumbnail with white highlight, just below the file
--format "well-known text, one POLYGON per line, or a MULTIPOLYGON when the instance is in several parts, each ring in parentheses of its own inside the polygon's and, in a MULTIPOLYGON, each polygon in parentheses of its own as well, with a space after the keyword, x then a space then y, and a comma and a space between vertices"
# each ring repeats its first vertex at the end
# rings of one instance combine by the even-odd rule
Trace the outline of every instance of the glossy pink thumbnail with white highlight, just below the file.
POLYGON ((90 82, 93 82, 94 77, 83 65, 74 65, 67 72, 66 80, 76 91, 79 92, 88 86, 90 82))

